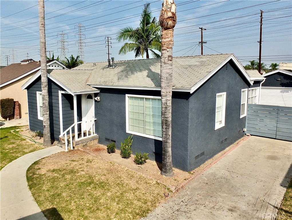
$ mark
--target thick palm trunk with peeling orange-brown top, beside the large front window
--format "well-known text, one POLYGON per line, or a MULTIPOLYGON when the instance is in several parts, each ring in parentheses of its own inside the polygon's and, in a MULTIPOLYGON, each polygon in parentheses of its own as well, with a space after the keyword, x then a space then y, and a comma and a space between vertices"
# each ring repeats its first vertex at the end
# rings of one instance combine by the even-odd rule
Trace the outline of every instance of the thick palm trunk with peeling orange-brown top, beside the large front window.
POLYGON ((161 129, 162 129, 162 170, 166 177, 174 175, 171 157, 171 96, 172 96, 172 63, 173 63, 173 28, 176 24, 176 6, 173 0, 164 0, 159 23, 161 35, 161 129))

